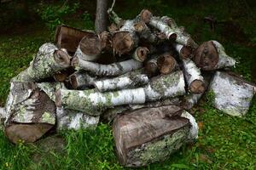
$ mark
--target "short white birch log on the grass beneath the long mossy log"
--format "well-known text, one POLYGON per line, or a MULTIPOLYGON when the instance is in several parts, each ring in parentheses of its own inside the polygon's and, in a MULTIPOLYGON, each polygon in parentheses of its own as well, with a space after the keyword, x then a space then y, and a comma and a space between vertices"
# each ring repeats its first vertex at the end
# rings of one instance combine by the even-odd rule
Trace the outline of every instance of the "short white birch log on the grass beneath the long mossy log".
POLYGON ((100 116, 90 116, 79 111, 65 110, 57 107, 56 128, 58 131, 65 129, 85 129, 96 128, 100 121, 100 116))

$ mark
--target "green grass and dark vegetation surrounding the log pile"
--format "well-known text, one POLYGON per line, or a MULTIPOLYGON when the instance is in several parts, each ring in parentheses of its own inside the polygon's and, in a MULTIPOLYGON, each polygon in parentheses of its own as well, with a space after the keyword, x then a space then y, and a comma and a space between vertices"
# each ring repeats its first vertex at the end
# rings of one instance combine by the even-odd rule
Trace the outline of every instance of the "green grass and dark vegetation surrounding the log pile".
MULTIPOLYGON (((111 2, 110 2, 111 3, 111 2)), ((55 26, 93 29, 96 1, 11 1, 0 3, 0 104, 9 94, 9 80, 24 70, 44 42, 53 42, 55 26)), ((123 18, 142 8, 169 15, 196 42, 215 39, 239 64, 234 71, 256 82, 256 15, 253 1, 119 0, 115 10, 123 18), (218 23, 212 31, 204 17, 218 23)), ((227 116, 212 108, 207 94, 191 113, 200 125, 200 138, 165 162, 142 169, 256 169, 256 99, 247 116, 227 116)), ((123 169, 114 155, 111 125, 96 131, 62 132, 58 144, 10 144, 0 133, 1 169, 123 169), (59 144, 59 145, 60 145, 59 144)), ((43 140, 44 141, 44 140, 43 140)))

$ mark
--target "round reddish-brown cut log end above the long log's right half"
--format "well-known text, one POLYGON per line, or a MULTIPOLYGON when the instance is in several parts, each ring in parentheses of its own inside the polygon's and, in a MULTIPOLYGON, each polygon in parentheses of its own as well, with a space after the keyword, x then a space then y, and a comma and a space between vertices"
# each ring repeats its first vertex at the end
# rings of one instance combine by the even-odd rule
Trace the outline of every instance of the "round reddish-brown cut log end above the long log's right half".
POLYGON ((177 66, 176 60, 171 55, 163 55, 157 59, 158 69, 162 74, 169 74, 177 66))

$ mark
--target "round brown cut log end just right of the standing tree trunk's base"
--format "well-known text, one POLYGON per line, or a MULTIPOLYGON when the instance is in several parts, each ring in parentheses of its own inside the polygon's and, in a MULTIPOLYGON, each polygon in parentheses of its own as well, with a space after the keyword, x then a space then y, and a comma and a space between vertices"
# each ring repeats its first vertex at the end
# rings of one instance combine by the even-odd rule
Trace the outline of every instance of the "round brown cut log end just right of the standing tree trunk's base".
POLYGON ((117 54, 130 52, 133 44, 133 38, 128 31, 119 31, 113 35, 113 49, 117 54))

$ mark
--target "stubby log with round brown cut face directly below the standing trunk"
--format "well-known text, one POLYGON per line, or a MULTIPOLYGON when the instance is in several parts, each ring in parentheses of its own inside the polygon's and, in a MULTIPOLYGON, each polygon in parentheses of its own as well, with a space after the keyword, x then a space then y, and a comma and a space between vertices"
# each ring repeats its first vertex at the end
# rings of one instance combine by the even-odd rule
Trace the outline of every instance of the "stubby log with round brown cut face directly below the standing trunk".
POLYGON ((93 31, 88 32, 79 42, 79 47, 74 54, 79 59, 94 61, 99 58, 102 53, 101 38, 93 31))

